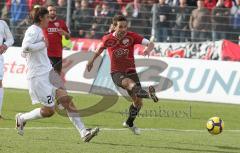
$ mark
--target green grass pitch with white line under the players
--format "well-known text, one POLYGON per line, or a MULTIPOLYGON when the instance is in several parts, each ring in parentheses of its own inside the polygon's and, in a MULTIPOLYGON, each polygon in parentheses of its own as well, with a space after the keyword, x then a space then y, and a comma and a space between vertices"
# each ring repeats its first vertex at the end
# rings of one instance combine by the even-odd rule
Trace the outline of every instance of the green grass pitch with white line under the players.
MULTIPOLYGON (((99 96, 74 94, 78 108, 94 105, 99 96)), ((28 122, 24 136, 15 130, 15 114, 30 111, 32 105, 26 90, 5 89, 0 120, 0 153, 239 153, 240 105, 145 100, 136 120, 142 128, 139 136, 122 127, 129 102, 120 98, 104 112, 83 117, 87 127, 101 131, 90 143, 84 143, 67 117, 28 122), (219 116, 225 123, 220 135, 210 135, 206 121, 219 116)))

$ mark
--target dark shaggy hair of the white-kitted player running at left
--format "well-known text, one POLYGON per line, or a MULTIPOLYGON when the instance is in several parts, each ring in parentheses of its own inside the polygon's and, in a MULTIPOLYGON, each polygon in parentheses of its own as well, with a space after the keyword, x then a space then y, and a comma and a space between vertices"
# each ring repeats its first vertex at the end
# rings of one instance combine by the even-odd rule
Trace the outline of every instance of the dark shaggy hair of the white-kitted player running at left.
POLYGON ((43 18, 46 14, 48 14, 47 8, 36 7, 31 11, 30 17, 31 17, 33 23, 40 23, 41 22, 40 18, 41 17, 43 18))

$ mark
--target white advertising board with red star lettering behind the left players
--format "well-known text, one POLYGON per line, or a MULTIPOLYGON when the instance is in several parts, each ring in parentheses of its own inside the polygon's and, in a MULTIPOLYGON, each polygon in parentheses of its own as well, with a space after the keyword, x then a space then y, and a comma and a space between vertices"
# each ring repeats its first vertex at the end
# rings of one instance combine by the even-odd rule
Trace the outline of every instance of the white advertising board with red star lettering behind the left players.
MULTIPOLYGON (((67 84, 67 89, 71 91, 89 92, 94 81, 94 75, 89 75, 85 72, 88 56, 83 52, 63 51, 63 70, 66 72, 64 76, 65 82, 70 82, 73 85, 67 84), (83 84, 77 84, 84 82, 83 84)), ((27 65, 26 59, 21 56, 20 47, 10 47, 4 56, 4 76, 3 86, 6 88, 28 89, 27 82, 27 65)), ((92 55, 91 55, 92 56, 92 55)), ((101 57, 99 57, 100 59, 101 57)), ((99 61, 100 62, 100 61, 99 61)), ((98 63, 99 63, 98 62, 98 63)), ((96 67, 98 69, 98 67, 96 67)), ((95 72, 97 73, 97 71, 95 72)))

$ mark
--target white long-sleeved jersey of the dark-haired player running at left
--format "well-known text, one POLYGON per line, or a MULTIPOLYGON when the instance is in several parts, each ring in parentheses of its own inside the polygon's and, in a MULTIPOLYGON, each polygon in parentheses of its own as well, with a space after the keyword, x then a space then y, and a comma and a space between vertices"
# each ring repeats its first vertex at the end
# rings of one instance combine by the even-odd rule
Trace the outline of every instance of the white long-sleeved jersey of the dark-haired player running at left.
POLYGON ((22 42, 22 50, 27 59, 28 79, 45 74, 52 69, 43 31, 39 26, 32 25, 27 29, 22 42))

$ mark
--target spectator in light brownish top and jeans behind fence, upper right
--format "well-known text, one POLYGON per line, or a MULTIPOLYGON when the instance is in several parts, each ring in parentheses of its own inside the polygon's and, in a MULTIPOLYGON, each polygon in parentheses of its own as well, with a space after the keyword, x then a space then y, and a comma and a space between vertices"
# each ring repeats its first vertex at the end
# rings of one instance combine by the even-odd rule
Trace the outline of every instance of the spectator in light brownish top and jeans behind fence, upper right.
POLYGON ((192 41, 206 41, 211 27, 210 11, 204 7, 204 1, 197 1, 197 8, 192 11, 189 21, 192 41))

